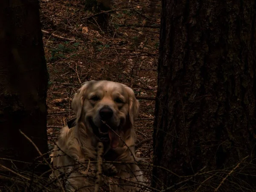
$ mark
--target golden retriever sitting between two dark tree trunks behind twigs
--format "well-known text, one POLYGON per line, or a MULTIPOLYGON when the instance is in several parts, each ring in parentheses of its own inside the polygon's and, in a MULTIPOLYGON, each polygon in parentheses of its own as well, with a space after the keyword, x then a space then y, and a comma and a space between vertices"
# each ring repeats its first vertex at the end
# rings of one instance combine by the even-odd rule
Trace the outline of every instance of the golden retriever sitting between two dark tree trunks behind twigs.
POLYGON ((51 176, 59 179, 65 175, 65 186, 71 191, 93 191, 97 170, 92 162, 96 162, 100 142, 103 160, 116 162, 102 165, 102 183, 108 186, 105 191, 139 191, 142 185, 138 183, 144 182, 144 176, 135 156, 134 120, 139 102, 134 91, 113 81, 87 81, 71 106, 76 113, 75 125, 61 130, 51 154, 52 165, 58 169, 51 176))

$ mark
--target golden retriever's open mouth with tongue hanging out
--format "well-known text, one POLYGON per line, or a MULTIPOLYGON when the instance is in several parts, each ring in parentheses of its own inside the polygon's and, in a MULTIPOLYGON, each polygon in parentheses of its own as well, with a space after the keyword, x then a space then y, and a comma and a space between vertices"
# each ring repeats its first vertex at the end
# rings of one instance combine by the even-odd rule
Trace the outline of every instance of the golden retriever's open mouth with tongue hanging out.
POLYGON ((109 142, 111 148, 118 147, 119 145, 118 128, 116 128, 115 131, 113 131, 113 129, 111 129, 108 125, 106 125, 106 123, 103 123, 103 122, 101 127, 99 128, 94 124, 92 118, 89 119, 89 122, 90 122, 91 128, 93 129, 93 133, 95 134, 95 136, 98 138, 100 142, 102 143, 109 142))

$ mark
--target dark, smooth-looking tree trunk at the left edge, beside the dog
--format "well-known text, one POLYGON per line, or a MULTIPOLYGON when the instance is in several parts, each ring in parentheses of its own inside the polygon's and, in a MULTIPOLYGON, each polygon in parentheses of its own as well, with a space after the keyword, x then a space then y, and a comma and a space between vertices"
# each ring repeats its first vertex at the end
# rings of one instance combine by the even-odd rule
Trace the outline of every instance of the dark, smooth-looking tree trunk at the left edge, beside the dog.
MULTIPOLYGON (((47 145, 47 67, 38 0, 0 6, 0 157, 32 162, 47 145)), ((15 163, 15 162, 13 162, 15 163)), ((10 161, 0 160, 9 166, 10 161)), ((17 165, 17 164, 16 164, 17 165)), ((19 164, 20 168, 24 165, 19 164)))

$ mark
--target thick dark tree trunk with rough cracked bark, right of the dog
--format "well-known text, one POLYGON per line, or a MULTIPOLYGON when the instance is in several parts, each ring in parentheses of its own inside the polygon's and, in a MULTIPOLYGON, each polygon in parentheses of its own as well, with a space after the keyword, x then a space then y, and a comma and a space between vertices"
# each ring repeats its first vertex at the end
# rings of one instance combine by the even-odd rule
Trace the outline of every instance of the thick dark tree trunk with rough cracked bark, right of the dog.
MULTIPOLYGON (((230 168, 214 176, 216 189, 231 166, 252 166, 256 153, 256 1, 162 3, 154 165, 177 175, 230 168)), ((157 188, 182 180, 159 168, 153 175, 157 188)), ((232 172, 221 187, 237 187, 229 178, 240 176, 232 172)))

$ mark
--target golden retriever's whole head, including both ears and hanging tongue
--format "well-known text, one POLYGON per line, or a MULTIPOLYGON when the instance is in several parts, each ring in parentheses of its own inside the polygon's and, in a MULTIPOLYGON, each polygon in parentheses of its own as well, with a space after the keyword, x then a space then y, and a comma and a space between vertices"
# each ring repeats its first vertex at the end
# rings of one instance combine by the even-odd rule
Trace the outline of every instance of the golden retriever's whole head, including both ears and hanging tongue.
POLYGON ((116 148, 119 145, 116 134, 132 128, 139 102, 133 90, 124 84, 87 81, 75 94, 72 107, 78 121, 97 137, 108 137, 111 147, 116 148))

